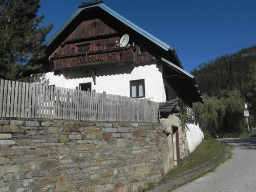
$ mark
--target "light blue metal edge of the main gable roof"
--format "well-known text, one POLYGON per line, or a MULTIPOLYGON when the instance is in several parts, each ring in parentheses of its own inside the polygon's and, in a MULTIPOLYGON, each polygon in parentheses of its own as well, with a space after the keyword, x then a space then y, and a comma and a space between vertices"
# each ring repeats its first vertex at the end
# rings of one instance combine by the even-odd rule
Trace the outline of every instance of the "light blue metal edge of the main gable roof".
POLYGON ((120 22, 122 22, 123 24, 125 24, 126 26, 130 27, 131 29, 133 29, 134 31, 138 32, 139 34, 141 34, 142 36, 144 36, 145 38, 151 40, 152 42, 154 42, 154 44, 158 45, 159 47, 161 47, 162 49, 164 49, 165 51, 168 50, 174 50, 173 47, 170 47, 169 45, 165 44, 165 42, 161 41, 160 39, 158 39, 157 37, 155 37, 154 35, 146 32, 145 30, 141 29, 140 27, 138 27, 137 25, 135 25, 134 23, 130 22, 130 20, 124 18, 122 15, 120 15, 119 13, 115 12, 114 10, 112 10, 111 8, 109 8, 108 6, 104 5, 103 3, 101 3, 102 1, 96 1, 93 2, 91 4, 82 4, 81 6, 78 6, 78 10, 67 20, 67 22, 65 24, 63 24, 57 31, 56 33, 46 42, 46 45, 49 46, 54 40, 55 38, 63 31, 65 30, 65 28, 72 22, 72 20, 75 19, 75 17, 83 10, 86 9, 90 9, 90 8, 94 8, 94 7, 99 7, 102 10, 104 10, 105 12, 108 12, 109 14, 111 14, 113 17, 115 17, 116 19, 120 20, 120 22), (97 3, 98 2, 98 3, 97 3))

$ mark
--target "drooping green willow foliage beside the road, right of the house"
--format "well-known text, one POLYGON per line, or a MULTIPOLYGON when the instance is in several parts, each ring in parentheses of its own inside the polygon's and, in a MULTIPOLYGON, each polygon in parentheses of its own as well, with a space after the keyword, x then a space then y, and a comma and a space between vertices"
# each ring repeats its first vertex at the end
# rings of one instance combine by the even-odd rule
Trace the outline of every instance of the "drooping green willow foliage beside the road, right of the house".
POLYGON ((216 138, 217 135, 239 135, 245 130, 245 118, 243 116, 244 101, 238 90, 226 91, 222 97, 204 97, 204 104, 195 103, 194 107, 199 110, 205 121, 204 132, 216 138))

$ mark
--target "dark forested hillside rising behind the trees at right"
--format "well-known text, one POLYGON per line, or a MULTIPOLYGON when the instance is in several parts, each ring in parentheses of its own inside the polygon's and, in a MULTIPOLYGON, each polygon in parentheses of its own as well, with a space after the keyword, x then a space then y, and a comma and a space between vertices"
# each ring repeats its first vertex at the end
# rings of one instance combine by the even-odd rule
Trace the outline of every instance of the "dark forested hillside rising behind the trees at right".
POLYGON ((241 84, 246 80, 249 64, 254 60, 256 46, 202 63, 191 74, 195 76, 202 94, 218 96, 221 90, 232 89, 238 89, 243 94, 241 84))

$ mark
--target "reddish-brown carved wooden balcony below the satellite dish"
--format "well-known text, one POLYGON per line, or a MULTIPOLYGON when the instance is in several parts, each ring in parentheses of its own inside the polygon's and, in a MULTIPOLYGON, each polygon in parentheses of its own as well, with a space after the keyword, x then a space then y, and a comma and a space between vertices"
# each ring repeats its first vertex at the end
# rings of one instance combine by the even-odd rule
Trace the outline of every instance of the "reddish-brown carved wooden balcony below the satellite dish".
POLYGON ((111 63, 134 61, 132 46, 124 48, 105 49, 86 53, 58 55, 51 57, 53 70, 72 70, 82 67, 100 66, 111 63))

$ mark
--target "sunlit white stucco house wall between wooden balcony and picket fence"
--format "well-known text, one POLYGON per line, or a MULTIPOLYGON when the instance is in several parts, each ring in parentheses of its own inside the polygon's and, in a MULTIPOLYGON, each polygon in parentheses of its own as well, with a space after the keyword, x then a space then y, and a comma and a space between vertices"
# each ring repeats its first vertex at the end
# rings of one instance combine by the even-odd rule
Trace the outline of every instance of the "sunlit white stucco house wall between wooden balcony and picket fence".
POLYGON ((145 97, 156 102, 166 101, 161 65, 98 68, 96 70, 96 85, 94 85, 90 70, 70 71, 65 76, 47 73, 46 77, 49 78, 50 84, 57 87, 75 89, 79 83, 91 82, 92 90, 94 89, 98 93, 105 91, 108 94, 128 97, 130 97, 130 81, 144 79, 145 97))

